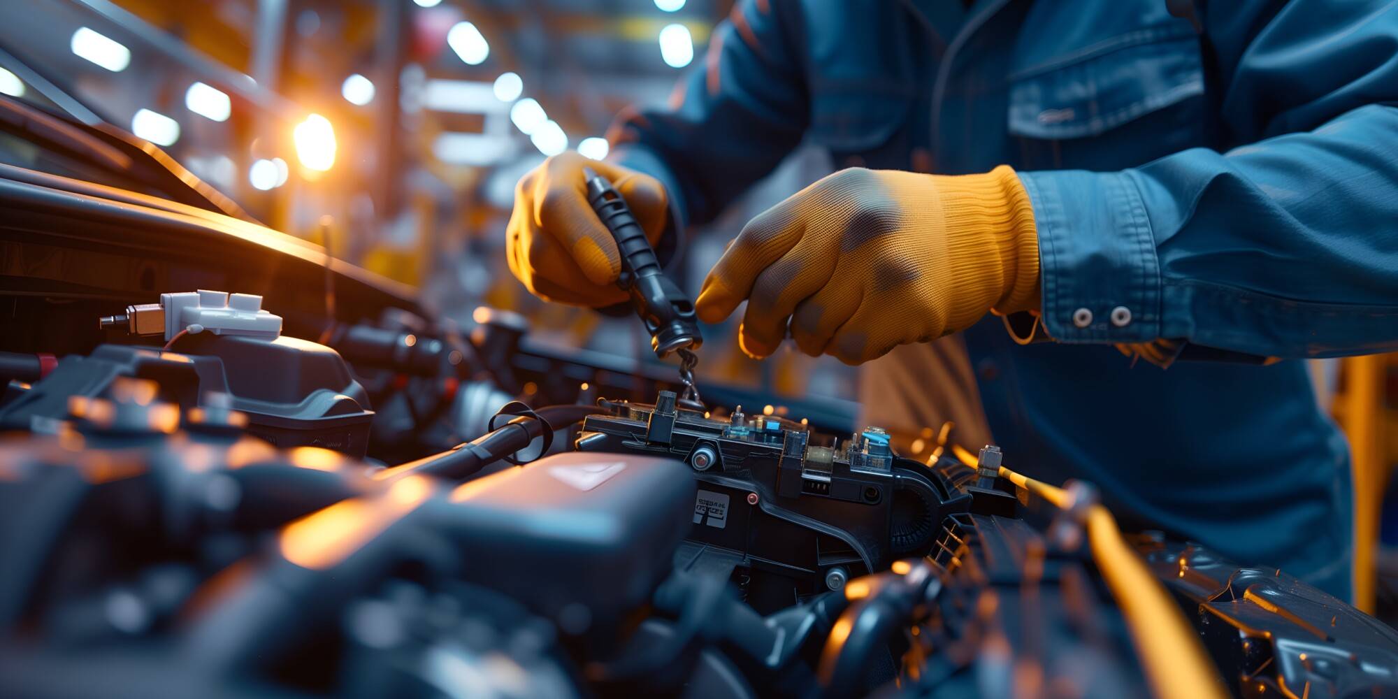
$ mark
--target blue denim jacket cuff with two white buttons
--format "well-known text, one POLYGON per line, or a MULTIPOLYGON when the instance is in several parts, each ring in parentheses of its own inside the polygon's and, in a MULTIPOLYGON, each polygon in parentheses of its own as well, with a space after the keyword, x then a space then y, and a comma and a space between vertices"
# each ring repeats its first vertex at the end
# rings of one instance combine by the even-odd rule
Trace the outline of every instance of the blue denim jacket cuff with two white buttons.
POLYGON ((1021 172, 1039 231, 1042 316, 1060 343, 1160 337, 1160 264, 1135 183, 1117 172, 1021 172))

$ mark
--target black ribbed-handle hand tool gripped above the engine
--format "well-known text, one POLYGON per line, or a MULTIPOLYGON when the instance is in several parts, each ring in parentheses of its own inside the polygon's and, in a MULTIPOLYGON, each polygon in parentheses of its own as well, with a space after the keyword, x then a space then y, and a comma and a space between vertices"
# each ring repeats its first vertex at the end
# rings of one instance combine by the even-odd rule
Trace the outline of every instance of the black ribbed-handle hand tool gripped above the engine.
POLYGON ((650 348, 656 355, 661 359, 670 352, 679 355, 679 380, 685 384, 681 403, 703 410, 693 375, 695 365, 699 363, 693 351, 703 344, 703 337, 699 334, 693 303, 665 277, 656 250, 646 240, 646 232, 611 182, 590 168, 583 168, 583 176, 587 178, 587 201, 621 252, 622 271, 617 285, 630 295, 630 306, 646 324, 650 348))

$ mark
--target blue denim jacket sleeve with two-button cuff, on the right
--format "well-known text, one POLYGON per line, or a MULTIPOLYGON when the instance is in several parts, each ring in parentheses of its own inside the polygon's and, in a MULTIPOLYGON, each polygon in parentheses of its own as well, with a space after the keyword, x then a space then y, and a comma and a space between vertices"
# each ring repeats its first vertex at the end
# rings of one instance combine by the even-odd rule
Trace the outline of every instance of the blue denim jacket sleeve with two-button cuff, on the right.
POLYGON ((1222 123, 1248 145, 1021 173, 1044 329, 1269 356, 1398 350, 1398 7, 1229 1, 1199 20, 1222 123))

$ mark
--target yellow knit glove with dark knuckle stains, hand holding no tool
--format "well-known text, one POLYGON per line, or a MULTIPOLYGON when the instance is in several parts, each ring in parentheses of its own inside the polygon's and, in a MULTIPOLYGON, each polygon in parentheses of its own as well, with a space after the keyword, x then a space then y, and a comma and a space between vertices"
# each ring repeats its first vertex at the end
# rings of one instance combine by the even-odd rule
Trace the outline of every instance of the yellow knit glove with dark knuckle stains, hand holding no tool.
POLYGON ((787 334, 809 355, 861 363, 1039 306, 1039 238, 1015 171, 836 172, 742 228, 699 294, 707 323, 744 299, 752 356, 787 334))

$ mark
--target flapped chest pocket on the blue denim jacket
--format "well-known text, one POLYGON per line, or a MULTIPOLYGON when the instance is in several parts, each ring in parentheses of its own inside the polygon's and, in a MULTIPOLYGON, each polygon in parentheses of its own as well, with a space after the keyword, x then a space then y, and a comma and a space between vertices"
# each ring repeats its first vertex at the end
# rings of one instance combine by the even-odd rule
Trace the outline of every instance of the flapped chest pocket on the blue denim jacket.
POLYGON ((1205 144, 1198 41, 1139 36, 1011 77, 1008 130, 1022 169, 1117 171, 1205 144))

